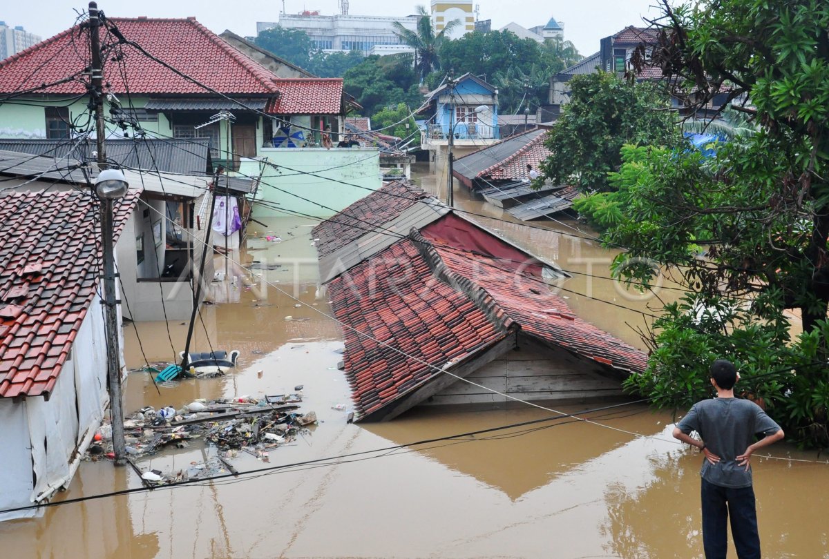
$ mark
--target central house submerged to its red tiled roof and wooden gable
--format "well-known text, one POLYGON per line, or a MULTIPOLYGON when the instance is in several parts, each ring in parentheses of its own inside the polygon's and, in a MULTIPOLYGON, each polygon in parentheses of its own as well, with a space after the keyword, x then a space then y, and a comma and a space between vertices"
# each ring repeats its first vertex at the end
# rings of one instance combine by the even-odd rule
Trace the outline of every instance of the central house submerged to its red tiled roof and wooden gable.
POLYGON ((356 421, 621 398, 621 380, 645 368, 645 354, 555 293, 565 272, 422 190, 391 183, 313 233, 356 421))

